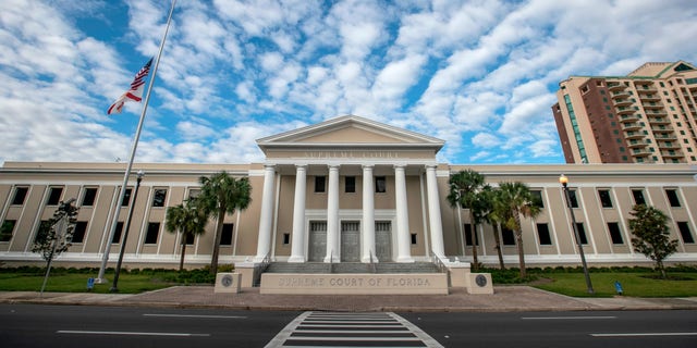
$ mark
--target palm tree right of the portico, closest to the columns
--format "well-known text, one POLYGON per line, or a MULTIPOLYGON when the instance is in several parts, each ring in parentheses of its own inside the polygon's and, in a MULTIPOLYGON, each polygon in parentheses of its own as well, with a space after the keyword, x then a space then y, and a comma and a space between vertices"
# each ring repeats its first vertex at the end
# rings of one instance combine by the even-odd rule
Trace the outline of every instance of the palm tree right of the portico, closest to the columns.
POLYGON ((450 194, 448 202, 450 206, 461 209, 469 209, 469 221, 472 223, 472 257, 473 269, 478 269, 477 260, 477 224, 481 220, 481 190, 485 186, 484 175, 473 170, 460 171, 450 176, 450 194))

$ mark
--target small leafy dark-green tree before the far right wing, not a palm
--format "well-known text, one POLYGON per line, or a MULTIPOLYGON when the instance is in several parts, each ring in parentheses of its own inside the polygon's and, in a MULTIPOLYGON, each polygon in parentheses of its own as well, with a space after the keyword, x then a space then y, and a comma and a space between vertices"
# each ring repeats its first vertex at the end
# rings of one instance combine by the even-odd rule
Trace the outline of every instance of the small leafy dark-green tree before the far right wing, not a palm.
POLYGON ((635 251, 653 260, 661 276, 667 278, 663 260, 677 250, 677 240, 670 239, 669 217, 659 209, 645 204, 632 209, 629 214, 634 219, 629 219, 629 231, 636 236, 632 238, 632 246, 635 251))

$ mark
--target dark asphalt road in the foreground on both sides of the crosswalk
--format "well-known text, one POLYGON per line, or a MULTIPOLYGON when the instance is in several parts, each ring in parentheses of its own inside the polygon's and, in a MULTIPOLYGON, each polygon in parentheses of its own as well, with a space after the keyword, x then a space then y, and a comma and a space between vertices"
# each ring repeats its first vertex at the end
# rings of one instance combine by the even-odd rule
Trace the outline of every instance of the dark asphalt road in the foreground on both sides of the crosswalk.
MULTIPOLYGON (((0 304, 0 345, 13 348, 265 347, 301 314, 0 304)), ((396 314, 443 347, 697 347, 697 311, 396 314)))

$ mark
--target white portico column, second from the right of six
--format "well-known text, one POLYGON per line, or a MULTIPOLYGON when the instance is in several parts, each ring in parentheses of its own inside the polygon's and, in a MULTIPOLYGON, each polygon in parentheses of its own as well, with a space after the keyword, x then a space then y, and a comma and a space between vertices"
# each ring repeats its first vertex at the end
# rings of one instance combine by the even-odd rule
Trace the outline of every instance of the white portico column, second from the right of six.
POLYGON ((406 177, 403 164, 394 165, 394 190, 396 200, 396 262, 414 262, 414 259, 412 259, 412 235, 409 233, 406 177))

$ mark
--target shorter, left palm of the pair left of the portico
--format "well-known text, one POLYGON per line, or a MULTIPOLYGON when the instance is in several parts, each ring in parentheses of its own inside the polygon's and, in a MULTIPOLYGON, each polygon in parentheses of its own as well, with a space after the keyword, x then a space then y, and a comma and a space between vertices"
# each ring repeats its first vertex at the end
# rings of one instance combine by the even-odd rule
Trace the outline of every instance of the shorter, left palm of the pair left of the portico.
POLYGON ((203 235, 206 232, 208 215, 201 209, 196 198, 189 198, 183 203, 167 209, 164 227, 170 233, 182 234, 182 257, 179 261, 179 271, 184 269, 184 256, 186 254, 186 240, 188 237, 203 235))

